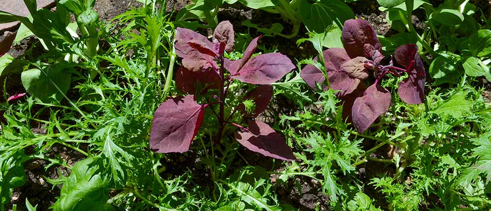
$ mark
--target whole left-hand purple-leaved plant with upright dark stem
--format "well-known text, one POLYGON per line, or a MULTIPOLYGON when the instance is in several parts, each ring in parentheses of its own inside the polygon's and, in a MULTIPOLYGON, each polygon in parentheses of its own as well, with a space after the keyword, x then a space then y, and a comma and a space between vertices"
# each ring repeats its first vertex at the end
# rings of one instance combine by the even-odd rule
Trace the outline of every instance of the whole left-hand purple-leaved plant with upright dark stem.
POLYGON ((295 160, 292 150, 283 138, 266 123, 253 120, 266 109, 273 96, 271 83, 281 79, 295 69, 292 61, 281 53, 265 53, 252 57, 260 37, 253 39, 246 48, 243 58, 229 60, 225 52, 234 48, 234 30, 230 22, 220 22, 213 33, 213 42, 205 36, 187 28, 177 28, 175 50, 182 58, 182 66, 177 71, 176 86, 183 92, 196 94, 197 87, 204 87, 201 95, 209 90, 219 90, 216 101, 198 104, 196 95, 176 97, 166 100, 157 109, 150 132, 150 149, 158 153, 186 152, 197 134, 205 114, 205 109, 213 109, 218 104, 218 140, 223 136, 226 125, 240 129, 234 133, 235 139, 247 149, 272 158, 295 160), (228 71, 228 74, 225 73, 228 71), (246 111, 244 104, 233 106, 234 112, 225 113, 227 92, 232 81, 240 80, 258 84, 242 99, 252 100, 255 109, 246 111), (229 122, 235 111, 241 111, 247 118, 248 127, 229 122))

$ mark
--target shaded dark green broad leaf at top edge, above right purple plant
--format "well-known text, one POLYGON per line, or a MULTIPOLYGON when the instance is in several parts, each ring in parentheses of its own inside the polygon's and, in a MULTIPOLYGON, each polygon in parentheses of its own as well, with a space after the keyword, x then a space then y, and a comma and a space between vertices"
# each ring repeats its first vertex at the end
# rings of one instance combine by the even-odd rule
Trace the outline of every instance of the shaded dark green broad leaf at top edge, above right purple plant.
POLYGON ((299 13, 303 24, 317 33, 323 33, 332 23, 342 28, 346 20, 355 18, 351 8, 340 0, 318 0, 313 4, 302 0, 299 13))

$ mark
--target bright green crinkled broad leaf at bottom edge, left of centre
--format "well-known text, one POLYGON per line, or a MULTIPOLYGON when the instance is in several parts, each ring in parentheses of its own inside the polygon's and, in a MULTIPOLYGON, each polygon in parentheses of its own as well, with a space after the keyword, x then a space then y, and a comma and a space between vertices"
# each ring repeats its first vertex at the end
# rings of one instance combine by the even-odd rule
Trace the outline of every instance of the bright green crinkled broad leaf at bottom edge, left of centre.
POLYGON ((61 187, 54 211, 111 211, 108 181, 101 172, 105 169, 99 158, 89 157, 77 162, 61 187))

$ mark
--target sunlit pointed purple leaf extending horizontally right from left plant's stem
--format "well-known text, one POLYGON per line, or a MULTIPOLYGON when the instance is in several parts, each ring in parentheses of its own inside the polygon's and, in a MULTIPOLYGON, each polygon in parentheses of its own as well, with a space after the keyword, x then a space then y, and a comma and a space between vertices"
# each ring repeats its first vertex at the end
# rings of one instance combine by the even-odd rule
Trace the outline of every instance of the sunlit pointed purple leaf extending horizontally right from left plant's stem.
POLYGON ((295 69, 292 61, 281 53, 266 53, 253 57, 231 76, 252 84, 271 84, 295 69))

